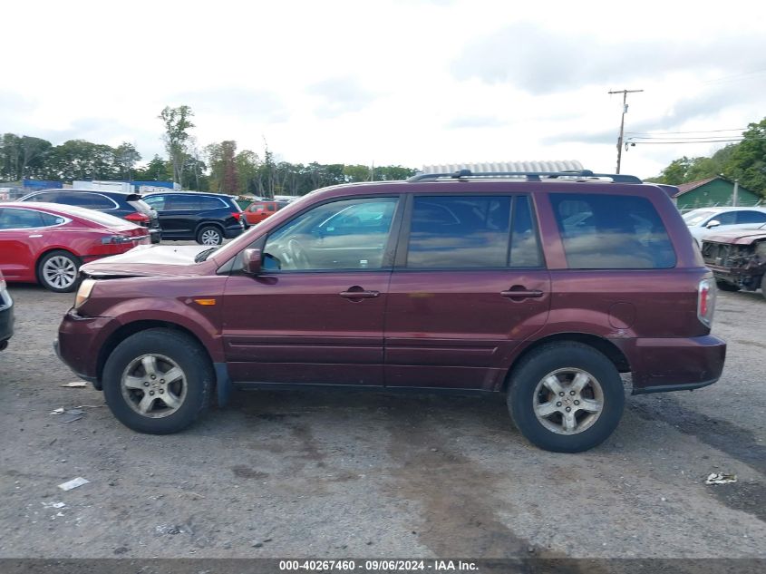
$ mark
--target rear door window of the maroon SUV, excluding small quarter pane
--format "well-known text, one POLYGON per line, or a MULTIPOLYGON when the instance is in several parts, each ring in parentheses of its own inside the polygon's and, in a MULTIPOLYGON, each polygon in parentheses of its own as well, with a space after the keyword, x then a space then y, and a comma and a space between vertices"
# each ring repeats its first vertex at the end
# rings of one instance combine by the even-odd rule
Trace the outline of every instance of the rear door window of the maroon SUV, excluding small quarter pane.
POLYGON ((408 268, 504 268, 510 197, 416 197, 408 268))

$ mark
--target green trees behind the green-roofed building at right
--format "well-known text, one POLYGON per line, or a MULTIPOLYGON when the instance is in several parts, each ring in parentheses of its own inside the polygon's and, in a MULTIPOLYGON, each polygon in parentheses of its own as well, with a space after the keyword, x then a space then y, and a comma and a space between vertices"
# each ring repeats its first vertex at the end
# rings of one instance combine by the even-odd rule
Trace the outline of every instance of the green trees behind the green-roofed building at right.
POLYGON ((717 175, 739 180, 743 188, 766 196, 766 118, 748 124, 742 141, 727 145, 711 157, 684 156, 671 161, 658 177, 648 181, 679 185, 717 175))

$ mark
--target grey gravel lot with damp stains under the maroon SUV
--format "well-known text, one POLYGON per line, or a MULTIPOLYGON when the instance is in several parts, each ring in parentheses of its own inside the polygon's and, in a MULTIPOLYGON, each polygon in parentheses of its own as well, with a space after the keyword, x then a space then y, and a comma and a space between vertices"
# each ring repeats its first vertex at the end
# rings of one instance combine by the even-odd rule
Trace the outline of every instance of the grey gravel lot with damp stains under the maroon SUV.
POLYGON ((76 377, 51 343, 73 295, 11 294, 0 558, 766 557, 760 294, 719 298, 718 384, 629 397, 576 455, 531 447, 501 396, 239 393, 187 432, 132 433, 101 393, 61 386, 76 377))

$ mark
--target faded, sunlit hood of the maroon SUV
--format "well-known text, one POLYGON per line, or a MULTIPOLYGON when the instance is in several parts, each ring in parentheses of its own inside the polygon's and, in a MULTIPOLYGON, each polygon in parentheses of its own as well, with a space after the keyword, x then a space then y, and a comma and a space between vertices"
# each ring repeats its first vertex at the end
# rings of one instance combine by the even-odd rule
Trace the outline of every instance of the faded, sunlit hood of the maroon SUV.
POLYGON ((82 266, 91 277, 169 277, 194 275, 194 258, 205 245, 140 245, 121 255, 98 259, 82 266))

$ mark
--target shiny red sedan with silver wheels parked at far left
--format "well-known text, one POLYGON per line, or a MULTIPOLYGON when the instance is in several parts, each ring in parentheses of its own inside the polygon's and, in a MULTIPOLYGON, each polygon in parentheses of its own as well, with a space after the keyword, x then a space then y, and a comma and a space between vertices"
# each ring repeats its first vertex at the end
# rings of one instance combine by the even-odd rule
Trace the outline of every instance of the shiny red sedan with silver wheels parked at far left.
POLYGON ((51 291, 73 291, 83 263, 144 244, 150 244, 148 229, 100 211, 53 203, 0 203, 0 271, 8 282, 39 282, 51 291))

